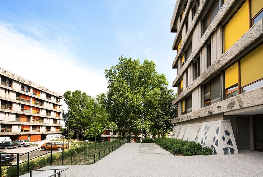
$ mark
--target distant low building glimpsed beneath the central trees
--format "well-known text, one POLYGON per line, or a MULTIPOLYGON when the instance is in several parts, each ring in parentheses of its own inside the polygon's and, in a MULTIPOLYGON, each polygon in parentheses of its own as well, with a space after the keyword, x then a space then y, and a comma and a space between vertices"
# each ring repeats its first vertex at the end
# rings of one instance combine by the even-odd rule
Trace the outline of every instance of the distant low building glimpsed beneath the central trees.
MULTIPOLYGON (((116 131, 106 130, 102 133, 101 137, 103 141, 112 141, 119 138, 119 133, 116 131)), ((134 132, 131 132, 130 135, 129 133, 126 133, 126 138, 128 138, 127 139, 128 142, 136 142, 136 137, 134 132)), ((141 133, 139 133, 137 136, 137 140, 141 140, 141 138, 142 135, 141 133)))

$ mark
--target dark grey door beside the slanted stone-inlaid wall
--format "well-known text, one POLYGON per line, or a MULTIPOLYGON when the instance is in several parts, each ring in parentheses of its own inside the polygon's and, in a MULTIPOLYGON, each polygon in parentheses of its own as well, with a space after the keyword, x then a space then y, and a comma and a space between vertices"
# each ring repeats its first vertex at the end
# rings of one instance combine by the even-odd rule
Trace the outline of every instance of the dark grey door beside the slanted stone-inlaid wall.
POLYGON ((238 150, 250 150, 249 116, 236 116, 236 143, 238 150))

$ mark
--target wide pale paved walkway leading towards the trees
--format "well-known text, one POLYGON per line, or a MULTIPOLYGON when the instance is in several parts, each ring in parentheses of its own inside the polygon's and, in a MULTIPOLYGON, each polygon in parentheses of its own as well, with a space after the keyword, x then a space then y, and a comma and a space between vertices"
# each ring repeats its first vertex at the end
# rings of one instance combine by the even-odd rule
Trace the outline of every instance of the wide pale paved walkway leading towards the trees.
POLYGON ((241 151, 237 155, 173 156, 153 153, 154 143, 126 143, 92 165, 73 165, 62 177, 249 177, 263 175, 263 153, 241 151), (148 147, 148 151, 146 149, 148 147), (147 155, 146 155, 147 154, 147 155), (158 154, 158 155, 157 155, 158 154))

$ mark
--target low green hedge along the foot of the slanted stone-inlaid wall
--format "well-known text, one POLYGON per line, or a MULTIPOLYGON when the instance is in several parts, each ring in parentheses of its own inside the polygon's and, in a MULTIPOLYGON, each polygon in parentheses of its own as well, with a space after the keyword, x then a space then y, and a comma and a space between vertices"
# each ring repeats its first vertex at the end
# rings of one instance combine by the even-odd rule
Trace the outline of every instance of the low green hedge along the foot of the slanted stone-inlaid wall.
POLYGON ((172 154, 175 153, 182 154, 184 156, 193 156, 210 155, 213 152, 213 149, 203 147, 200 143, 194 141, 186 141, 175 138, 156 138, 154 142, 172 154))

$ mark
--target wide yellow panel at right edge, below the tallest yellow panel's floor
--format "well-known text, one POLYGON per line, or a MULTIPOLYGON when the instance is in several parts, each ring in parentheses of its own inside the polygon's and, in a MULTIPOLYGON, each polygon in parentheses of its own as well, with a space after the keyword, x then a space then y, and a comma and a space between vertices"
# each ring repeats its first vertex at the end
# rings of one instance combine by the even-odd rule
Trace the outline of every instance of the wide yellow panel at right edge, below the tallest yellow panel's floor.
POLYGON ((240 60, 241 87, 263 77, 263 44, 240 60))

